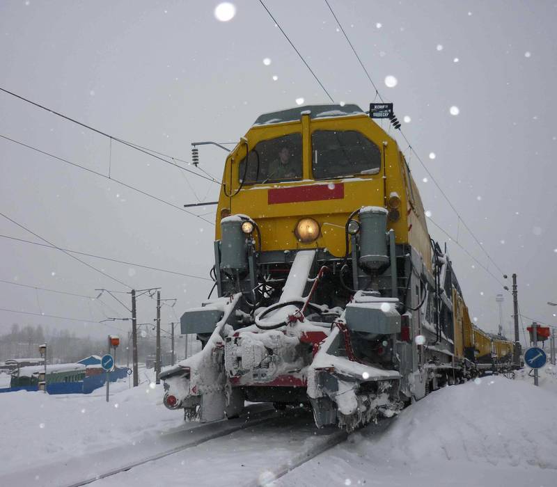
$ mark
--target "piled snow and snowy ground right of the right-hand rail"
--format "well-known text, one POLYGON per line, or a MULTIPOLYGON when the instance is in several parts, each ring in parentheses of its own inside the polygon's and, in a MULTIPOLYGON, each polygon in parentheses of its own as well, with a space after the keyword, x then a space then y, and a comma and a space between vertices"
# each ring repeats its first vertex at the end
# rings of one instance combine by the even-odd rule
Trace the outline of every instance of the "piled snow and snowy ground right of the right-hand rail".
POLYGON ((434 392, 274 485, 556 486, 557 378, 540 375, 540 388, 496 376, 434 392))

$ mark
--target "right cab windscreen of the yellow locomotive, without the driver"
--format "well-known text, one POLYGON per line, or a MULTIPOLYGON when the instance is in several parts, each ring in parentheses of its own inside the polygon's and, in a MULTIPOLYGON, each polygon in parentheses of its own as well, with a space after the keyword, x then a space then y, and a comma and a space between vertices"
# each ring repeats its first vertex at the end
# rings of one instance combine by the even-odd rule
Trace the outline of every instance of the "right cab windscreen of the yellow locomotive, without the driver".
POLYGON ((313 177, 377 174, 381 151, 366 136, 354 130, 317 130, 311 136, 313 177))

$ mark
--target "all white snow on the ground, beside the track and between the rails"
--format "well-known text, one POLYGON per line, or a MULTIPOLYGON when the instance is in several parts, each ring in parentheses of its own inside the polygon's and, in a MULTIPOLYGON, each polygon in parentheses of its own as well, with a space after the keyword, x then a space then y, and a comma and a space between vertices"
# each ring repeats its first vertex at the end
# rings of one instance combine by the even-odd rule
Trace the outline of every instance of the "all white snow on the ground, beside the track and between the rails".
MULTIPOLYGON (((542 369, 540 388, 531 384, 527 372, 516 381, 496 376, 444 388, 391 422, 352 434, 347 442, 275 481, 274 472, 326 439, 327 432, 311 424, 311 415, 287 415, 234 431, 102 479, 98 485, 555 486, 555 372, 542 369)), ((149 381, 131 390, 125 382, 112 384, 109 404, 104 389, 88 396, 0 394, 0 411, 3 445, 8 445, 0 456, 0 484, 2 479, 13 484, 20 478, 22 486, 65 484, 35 475, 38 465, 52 464, 51 479, 56 465, 66 473, 74 465, 84 477, 91 472, 94 476, 103 472, 103 464, 89 468, 86 462, 102 458, 107 450, 143 458, 156 448, 168 449, 170 440, 165 446, 159 438, 179 445, 196 434, 203 436, 201 432, 234 426, 224 422, 204 430, 199 424, 184 424, 180 412, 162 405, 161 386, 149 381)))

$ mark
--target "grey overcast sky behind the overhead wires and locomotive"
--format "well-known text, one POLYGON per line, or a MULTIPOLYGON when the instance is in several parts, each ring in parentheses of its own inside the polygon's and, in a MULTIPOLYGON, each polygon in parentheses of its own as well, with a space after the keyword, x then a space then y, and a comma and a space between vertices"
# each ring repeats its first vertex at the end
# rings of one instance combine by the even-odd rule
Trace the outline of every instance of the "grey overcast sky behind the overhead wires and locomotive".
MULTIPOLYGON (((328 102, 327 95, 257 0, 233 1, 220 22, 217 1, 38 1, 0 3, 0 86, 113 136, 189 160, 191 141, 237 141, 260 113, 328 102), (270 64, 264 63, 269 58, 270 64)), ((329 0, 379 92, 395 104, 403 130, 462 220, 505 273, 519 279, 521 312, 557 318, 554 1, 329 0), (385 79, 398 81, 389 88, 385 79), (451 115, 450 107, 458 109, 451 115), (434 154, 434 155, 432 155, 434 154), (430 158, 430 155, 434 159, 430 158)), ((363 109, 375 90, 324 0, 266 0, 267 8, 336 102, 363 109)), ((453 109, 455 111, 455 109, 453 109)), ((391 130, 392 133, 392 130, 391 130)), ((181 207, 214 200, 219 186, 0 92, 0 134, 136 186, 181 207)), ((400 134, 400 147, 409 154, 400 134)), ((220 179, 224 152, 201 149, 201 167, 220 179)), ((425 209, 499 280, 414 155, 409 164, 425 209), (426 178, 427 179, 424 179, 426 178)), ((56 246, 208 277, 209 223, 104 177, 0 138, 0 208, 56 246)), ((432 235, 448 240, 430 225, 432 235)), ((0 216, 0 280, 96 296, 129 290, 0 216)), ((501 285, 448 241, 471 315, 486 330, 499 321, 501 285)), ((178 298, 175 321, 198 306, 208 280, 78 255, 104 273, 178 298)), ((509 284, 510 285, 510 284, 509 284)), ((130 296, 118 295, 129 305, 130 296)), ((0 282, 0 308, 99 321, 124 317, 102 301, 0 282), (118 314, 116 314, 118 313, 118 314)), ((155 302, 140 298, 139 321, 155 302)), ((505 293, 505 327, 512 301, 505 293)), ((95 323, 0 311, 13 323, 100 335, 95 323)), ((530 320, 524 319, 524 326, 530 320)), ((122 330, 127 322, 113 324, 122 330)), ((507 328, 508 329, 508 328, 507 328)))

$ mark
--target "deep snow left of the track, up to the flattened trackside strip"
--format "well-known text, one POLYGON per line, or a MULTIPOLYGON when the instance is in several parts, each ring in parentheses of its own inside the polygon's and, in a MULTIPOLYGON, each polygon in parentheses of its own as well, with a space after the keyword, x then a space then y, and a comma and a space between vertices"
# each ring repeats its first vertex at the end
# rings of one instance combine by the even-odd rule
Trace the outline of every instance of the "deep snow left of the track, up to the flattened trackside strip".
POLYGON ((180 426, 182 415, 162 405, 162 384, 150 383, 144 370, 140 378, 138 388, 129 389, 127 379, 111 383, 109 403, 104 387, 91 394, 0 394, 0 475, 180 426))

